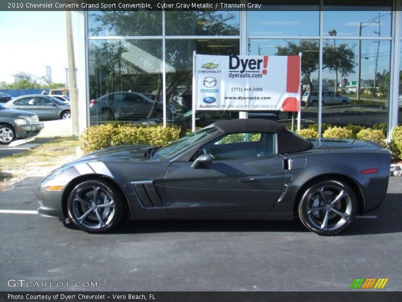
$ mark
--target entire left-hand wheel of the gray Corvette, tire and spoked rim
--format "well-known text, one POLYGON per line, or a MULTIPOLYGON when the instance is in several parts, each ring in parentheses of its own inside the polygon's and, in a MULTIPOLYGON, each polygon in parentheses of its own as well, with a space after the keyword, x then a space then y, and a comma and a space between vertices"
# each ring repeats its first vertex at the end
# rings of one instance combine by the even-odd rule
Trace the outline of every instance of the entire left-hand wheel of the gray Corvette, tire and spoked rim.
POLYGON ((76 185, 68 196, 68 218, 77 229, 87 233, 105 233, 121 220, 123 200, 122 194, 108 182, 84 181, 76 185))

